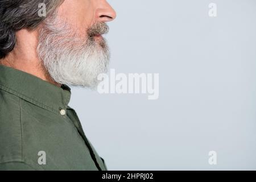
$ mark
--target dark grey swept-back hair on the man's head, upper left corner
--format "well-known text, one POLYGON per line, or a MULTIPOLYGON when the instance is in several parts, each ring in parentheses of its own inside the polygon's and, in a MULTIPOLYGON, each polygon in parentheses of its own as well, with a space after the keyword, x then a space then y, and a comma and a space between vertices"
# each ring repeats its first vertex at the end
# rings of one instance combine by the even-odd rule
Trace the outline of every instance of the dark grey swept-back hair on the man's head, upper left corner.
POLYGON ((38 15, 40 3, 52 14, 64 0, 0 0, 0 59, 11 52, 16 43, 15 32, 22 28, 34 29, 46 17, 38 15))

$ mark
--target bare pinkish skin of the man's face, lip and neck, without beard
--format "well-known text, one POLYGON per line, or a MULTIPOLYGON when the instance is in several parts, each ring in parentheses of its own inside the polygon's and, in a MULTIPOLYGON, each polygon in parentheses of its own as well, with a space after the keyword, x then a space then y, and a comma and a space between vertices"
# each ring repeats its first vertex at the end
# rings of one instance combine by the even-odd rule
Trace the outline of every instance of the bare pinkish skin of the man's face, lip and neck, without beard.
MULTIPOLYGON (((57 18, 69 24, 69 28, 73 28, 70 31, 75 31, 77 38, 81 38, 81 41, 88 37, 88 28, 95 23, 112 21, 115 16, 115 11, 106 0, 65 0, 57 14, 57 18)), ((0 64, 30 73, 60 86, 61 84, 53 80, 43 67, 42 60, 39 59, 36 51, 42 26, 33 31, 23 29, 16 32, 16 46, 0 64)), ((102 37, 99 35, 93 38, 100 46, 102 37)))

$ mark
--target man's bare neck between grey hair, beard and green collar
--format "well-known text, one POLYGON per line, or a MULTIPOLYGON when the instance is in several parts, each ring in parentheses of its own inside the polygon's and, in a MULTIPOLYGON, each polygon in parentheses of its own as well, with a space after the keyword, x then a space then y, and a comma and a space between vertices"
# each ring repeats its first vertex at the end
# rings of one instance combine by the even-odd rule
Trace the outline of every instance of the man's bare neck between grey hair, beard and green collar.
POLYGON ((37 37, 36 32, 20 30, 16 36, 15 48, 4 59, 0 60, 0 64, 29 73, 56 86, 61 86, 61 84, 52 80, 37 55, 36 45, 38 40, 35 39, 37 37), (30 36, 27 36, 27 34, 30 34, 30 36))

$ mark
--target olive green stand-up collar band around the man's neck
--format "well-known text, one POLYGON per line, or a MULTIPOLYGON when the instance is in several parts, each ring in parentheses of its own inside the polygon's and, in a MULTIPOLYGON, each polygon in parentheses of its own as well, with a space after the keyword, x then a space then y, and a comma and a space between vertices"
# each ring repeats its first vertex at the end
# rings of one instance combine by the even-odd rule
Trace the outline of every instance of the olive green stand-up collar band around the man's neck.
POLYGON ((36 76, 0 65, 0 89, 56 114, 67 110, 71 89, 53 85, 36 76))

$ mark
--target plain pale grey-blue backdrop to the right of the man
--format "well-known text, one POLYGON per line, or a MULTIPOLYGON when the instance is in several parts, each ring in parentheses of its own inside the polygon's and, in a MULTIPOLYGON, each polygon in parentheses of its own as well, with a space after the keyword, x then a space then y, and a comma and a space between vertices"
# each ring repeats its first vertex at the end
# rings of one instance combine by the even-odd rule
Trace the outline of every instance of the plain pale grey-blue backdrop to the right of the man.
POLYGON ((72 88, 70 106, 108 168, 256 169, 256 1, 109 3, 110 68, 159 73, 160 95, 72 88))

